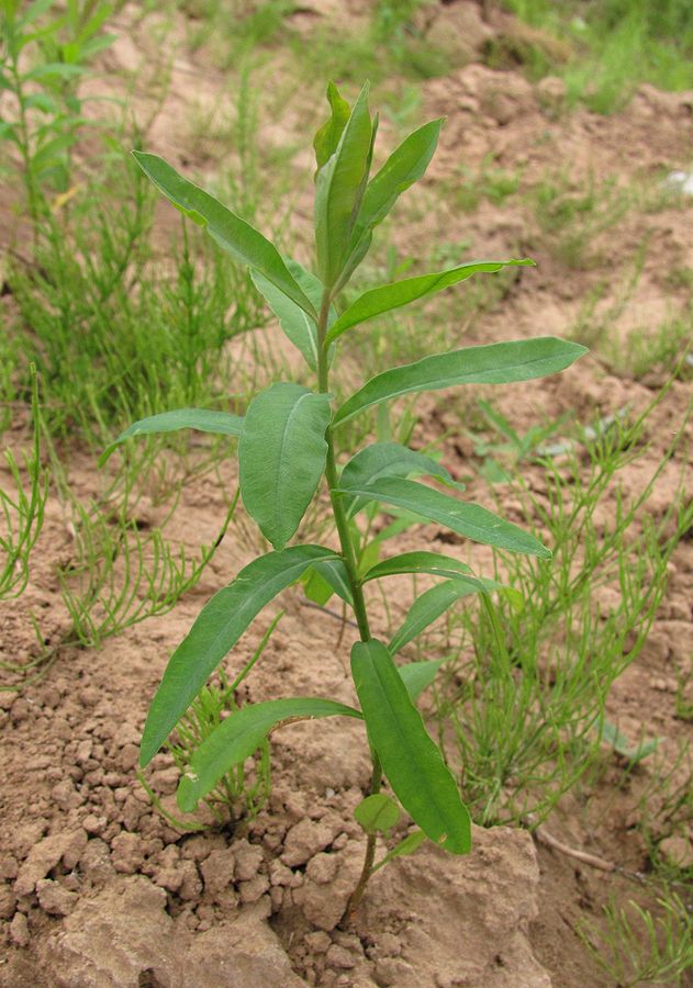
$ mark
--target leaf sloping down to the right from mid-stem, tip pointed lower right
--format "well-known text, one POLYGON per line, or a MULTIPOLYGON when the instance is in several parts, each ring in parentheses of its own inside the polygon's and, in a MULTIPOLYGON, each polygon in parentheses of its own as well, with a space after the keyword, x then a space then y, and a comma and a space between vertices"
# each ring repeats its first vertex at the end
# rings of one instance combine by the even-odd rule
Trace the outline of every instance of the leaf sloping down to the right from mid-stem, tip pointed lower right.
POLYGON ((524 552, 540 559, 551 558, 550 551, 538 539, 511 521, 504 521, 479 504, 466 504, 416 481, 383 476, 351 493, 369 501, 393 504, 484 546, 496 546, 508 552, 524 552))

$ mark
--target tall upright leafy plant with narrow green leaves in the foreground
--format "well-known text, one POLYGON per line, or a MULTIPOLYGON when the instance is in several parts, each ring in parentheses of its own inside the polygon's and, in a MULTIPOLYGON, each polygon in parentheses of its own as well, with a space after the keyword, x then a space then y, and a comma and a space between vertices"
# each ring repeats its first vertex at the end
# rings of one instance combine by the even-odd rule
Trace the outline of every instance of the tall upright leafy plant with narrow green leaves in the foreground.
POLYGON ((303 580, 313 593, 316 587, 318 593, 326 590, 323 599, 335 593, 353 609, 359 640, 351 649, 351 671, 360 709, 328 697, 294 697, 237 710, 193 755, 178 787, 178 802, 182 810, 193 809, 224 773, 249 757, 282 722, 335 715, 362 720, 372 777, 369 796, 356 812, 368 838, 361 880, 350 903, 354 909, 376 868, 395 854, 413 851, 426 838, 452 854, 470 849, 469 813, 415 706, 439 663, 398 667, 394 655, 454 600, 471 593, 485 598, 496 586, 474 576, 458 560, 436 552, 406 552, 378 561, 377 553, 365 551, 359 515, 383 505, 511 552, 543 558, 550 552, 533 535, 484 507, 461 501, 458 485, 431 458, 396 442, 373 442, 339 469, 335 437, 349 419, 400 395, 466 383, 526 381, 562 370, 584 348, 544 337, 426 356, 371 378, 335 407, 329 373, 344 333, 477 272, 532 261, 472 262, 406 278, 366 291, 337 314, 334 303, 364 260, 373 229, 399 195, 424 175, 441 121, 432 121, 411 134, 370 178, 378 121, 369 113, 368 87, 353 109, 333 85, 327 98, 331 115, 314 141, 315 273, 282 257, 258 231, 160 158, 135 153, 141 167, 174 205, 204 226, 233 258, 249 266, 258 290, 314 373, 314 388, 281 381, 257 394, 243 418, 224 412, 170 412, 135 423, 116 441, 183 427, 237 436, 243 503, 273 547, 212 597, 174 652, 149 707, 142 740, 143 767, 254 618, 284 587, 303 580), (447 490, 412 479, 424 475, 436 478, 447 490), (329 494, 338 548, 290 544, 321 482, 329 494), (443 582, 414 603, 402 628, 385 643, 371 633, 364 586, 402 573, 433 574, 443 582), (394 798, 380 791, 383 777, 394 798), (395 800, 418 829, 375 864, 377 833, 389 830, 399 815, 395 800))

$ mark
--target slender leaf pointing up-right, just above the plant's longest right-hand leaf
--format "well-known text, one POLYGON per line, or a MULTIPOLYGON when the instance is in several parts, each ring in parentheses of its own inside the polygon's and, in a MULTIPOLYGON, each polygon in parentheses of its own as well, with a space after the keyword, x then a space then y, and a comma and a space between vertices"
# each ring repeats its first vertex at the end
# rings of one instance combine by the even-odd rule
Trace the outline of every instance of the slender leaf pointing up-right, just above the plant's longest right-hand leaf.
POLYGON ((403 281, 394 281, 391 284, 371 289, 349 305, 346 312, 342 313, 327 334, 326 339, 328 343, 333 343, 351 326, 366 323, 368 319, 372 319, 383 312, 390 312, 392 308, 409 305, 410 302, 415 302, 417 299, 424 299, 426 295, 441 292, 452 284, 466 281, 478 272, 493 273, 502 268, 526 267, 527 265, 534 265, 534 261, 528 258, 522 260, 512 258, 506 261, 470 261, 469 263, 450 268, 449 271, 420 274, 416 278, 405 278, 403 281))

